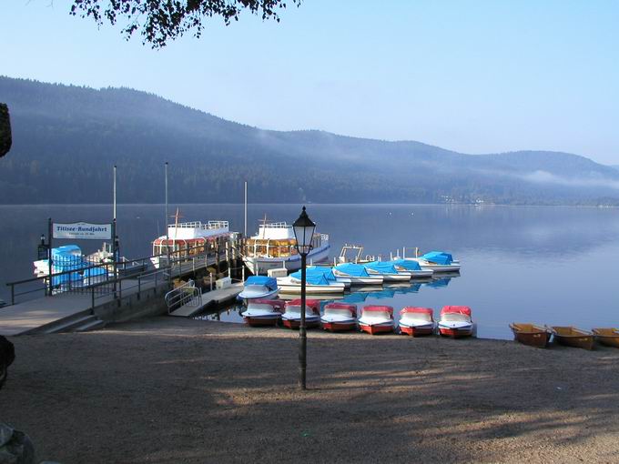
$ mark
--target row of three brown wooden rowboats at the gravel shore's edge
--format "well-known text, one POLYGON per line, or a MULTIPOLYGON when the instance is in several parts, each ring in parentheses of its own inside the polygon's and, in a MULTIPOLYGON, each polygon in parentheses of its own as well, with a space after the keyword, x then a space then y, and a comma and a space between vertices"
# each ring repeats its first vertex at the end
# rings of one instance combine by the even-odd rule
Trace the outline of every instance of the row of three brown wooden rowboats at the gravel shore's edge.
POLYGON ((619 328, 594 328, 583 330, 572 326, 538 326, 535 324, 512 323, 513 338, 524 345, 546 348, 551 338, 568 347, 594 349, 595 342, 619 348, 619 328))

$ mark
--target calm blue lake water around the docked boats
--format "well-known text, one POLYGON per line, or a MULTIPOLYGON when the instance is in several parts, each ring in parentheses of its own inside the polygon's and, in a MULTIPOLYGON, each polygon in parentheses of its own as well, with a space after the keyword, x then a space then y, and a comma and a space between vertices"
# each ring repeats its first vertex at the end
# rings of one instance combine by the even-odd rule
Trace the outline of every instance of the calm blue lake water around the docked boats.
MULTIPOLYGON (((170 214, 174 207, 169 207, 170 214)), ((249 233, 260 218, 293 221, 299 206, 250 205, 249 233)), ((242 205, 181 205, 182 220, 226 219, 243 229, 242 205)), ((463 207, 419 205, 309 205, 318 230, 330 234, 331 253, 348 243, 367 253, 401 247, 452 252, 462 262, 460 277, 353 298, 360 304, 399 309, 444 305, 472 307, 478 334, 511 338, 511 321, 583 328, 619 325, 619 210, 584 207, 463 207)), ((32 276, 32 261, 46 218, 58 222, 105 222, 111 207, 0 206, 0 298, 5 283, 32 276)), ((143 257, 163 233, 164 211, 157 205, 118 207, 121 253, 143 257)), ((68 242, 64 242, 68 243, 68 242)), ((80 243, 85 252, 98 242, 80 243)), ((235 320, 231 312, 222 320, 235 320)))

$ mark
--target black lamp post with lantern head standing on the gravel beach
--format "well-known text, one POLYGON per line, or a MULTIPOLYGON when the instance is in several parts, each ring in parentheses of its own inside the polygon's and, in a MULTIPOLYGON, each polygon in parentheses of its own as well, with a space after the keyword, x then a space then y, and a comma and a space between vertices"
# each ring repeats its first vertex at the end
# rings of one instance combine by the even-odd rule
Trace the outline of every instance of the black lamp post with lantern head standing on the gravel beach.
POLYGON ((301 211, 299 218, 292 224, 294 230, 294 237, 297 239, 297 251, 301 257, 301 322, 299 324, 299 387, 306 389, 305 387, 305 371, 307 368, 307 354, 308 354, 308 337, 307 329, 305 327, 305 265, 309 250, 311 250, 311 240, 314 237, 314 229, 316 224, 311 222, 308 217, 308 213, 305 212, 305 207, 301 211))

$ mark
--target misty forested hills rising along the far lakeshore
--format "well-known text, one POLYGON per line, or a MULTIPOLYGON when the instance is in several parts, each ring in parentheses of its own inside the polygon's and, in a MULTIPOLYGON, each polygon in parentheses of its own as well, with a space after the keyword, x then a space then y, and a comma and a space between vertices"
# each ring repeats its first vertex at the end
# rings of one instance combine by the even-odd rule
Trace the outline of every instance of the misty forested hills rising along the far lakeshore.
POLYGON ((243 126, 158 96, 0 77, 13 148, 0 203, 619 204, 619 171, 551 152, 471 156, 419 142, 243 126))

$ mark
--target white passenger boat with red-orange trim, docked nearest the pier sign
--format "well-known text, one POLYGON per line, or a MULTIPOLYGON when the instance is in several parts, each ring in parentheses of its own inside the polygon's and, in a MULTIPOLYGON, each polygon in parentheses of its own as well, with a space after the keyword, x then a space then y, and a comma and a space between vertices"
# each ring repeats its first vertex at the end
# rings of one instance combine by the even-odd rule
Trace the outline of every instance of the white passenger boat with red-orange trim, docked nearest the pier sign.
POLYGON ((191 259, 196 255, 224 249, 235 233, 229 231, 228 221, 178 222, 167 226, 167 236, 153 241, 153 266, 167 265, 167 255, 174 260, 191 259))

